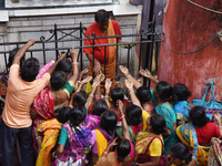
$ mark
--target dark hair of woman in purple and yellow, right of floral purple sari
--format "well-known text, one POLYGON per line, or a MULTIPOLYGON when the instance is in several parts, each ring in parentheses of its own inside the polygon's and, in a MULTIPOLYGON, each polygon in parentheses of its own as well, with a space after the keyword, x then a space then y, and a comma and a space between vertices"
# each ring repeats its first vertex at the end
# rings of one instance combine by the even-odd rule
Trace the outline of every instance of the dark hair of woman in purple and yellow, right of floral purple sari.
POLYGON ((117 123, 117 115, 112 111, 105 111, 100 118, 100 127, 104 129, 109 135, 112 135, 114 133, 117 123))

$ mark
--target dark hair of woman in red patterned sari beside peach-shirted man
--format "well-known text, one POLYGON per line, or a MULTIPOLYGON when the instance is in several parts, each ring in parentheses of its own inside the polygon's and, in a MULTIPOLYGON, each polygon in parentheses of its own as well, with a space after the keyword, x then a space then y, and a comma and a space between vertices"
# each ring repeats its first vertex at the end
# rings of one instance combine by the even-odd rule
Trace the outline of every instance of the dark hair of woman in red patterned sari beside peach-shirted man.
POLYGON ((53 72, 50 79, 51 87, 56 91, 60 90, 67 83, 67 79, 68 76, 64 72, 62 71, 53 72))

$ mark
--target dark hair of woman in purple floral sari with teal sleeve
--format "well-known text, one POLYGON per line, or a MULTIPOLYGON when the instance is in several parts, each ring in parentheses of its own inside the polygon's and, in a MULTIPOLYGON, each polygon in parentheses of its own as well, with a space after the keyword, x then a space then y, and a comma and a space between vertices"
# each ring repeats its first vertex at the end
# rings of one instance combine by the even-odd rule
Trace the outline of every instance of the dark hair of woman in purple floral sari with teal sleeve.
POLYGON ((69 120, 74 126, 78 126, 84 121, 85 114, 84 106, 77 104, 70 110, 69 120))

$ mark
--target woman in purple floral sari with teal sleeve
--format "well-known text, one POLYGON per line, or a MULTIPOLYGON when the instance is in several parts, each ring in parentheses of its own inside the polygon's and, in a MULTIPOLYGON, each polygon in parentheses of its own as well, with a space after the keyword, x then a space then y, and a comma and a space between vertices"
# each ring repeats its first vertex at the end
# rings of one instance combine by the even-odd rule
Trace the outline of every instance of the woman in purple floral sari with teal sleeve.
POLYGON ((69 121, 62 126, 59 145, 52 153, 51 166, 58 164, 87 164, 87 155, 91 151, 92 134, 82 125, 85 118, 85 108, 79 104, 70 111, 69 121))

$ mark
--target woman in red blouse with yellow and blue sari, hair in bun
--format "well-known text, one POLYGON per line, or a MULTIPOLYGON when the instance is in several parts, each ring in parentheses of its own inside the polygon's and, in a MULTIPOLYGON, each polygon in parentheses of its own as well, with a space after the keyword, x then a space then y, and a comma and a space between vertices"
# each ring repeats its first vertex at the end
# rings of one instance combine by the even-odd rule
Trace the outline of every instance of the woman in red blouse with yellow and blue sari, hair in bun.
POLYGON ((221 115, 216 114, 215 123, 210 122, 206 117, 205 111, 201 106, 194 106, 189 112, 190 123, 181 125, 176 128, 176 134, 181 142, 185 146, 193 147, 193 155, 196 158, 198 166, 208 165, 208 152, 211 145, 212 137, 220 137, 222 133, 221 128, 221 115))

